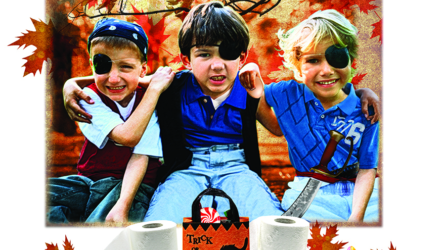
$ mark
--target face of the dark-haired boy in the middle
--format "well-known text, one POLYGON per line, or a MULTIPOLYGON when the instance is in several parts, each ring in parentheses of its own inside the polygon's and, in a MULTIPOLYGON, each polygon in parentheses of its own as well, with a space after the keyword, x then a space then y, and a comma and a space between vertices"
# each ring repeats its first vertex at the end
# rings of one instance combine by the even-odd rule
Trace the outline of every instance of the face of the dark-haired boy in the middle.
POLYGON ((203 94, 213 99, 233 86, 246 59, 247 53, 242 52, 233 61, 224 60, 219 55, 218 46, 194 46, 190 49, 190 59, 181 54, 184 67, 193 71, 203 94))

